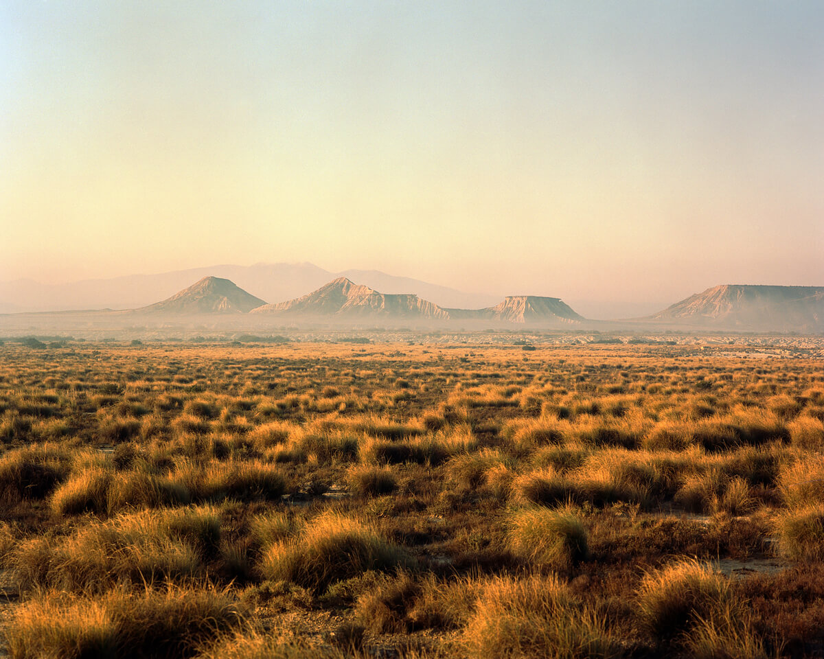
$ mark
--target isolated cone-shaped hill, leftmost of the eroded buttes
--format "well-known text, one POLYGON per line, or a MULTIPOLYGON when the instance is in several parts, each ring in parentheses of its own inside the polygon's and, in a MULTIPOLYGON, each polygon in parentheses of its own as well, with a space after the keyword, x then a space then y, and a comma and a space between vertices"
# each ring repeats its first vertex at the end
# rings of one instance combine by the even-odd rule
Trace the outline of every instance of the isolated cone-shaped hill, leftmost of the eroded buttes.
POLYGON ((228 279, 204 277, 190 287, 175 293, 136 313, 150 314, 245 314, 266 302, 239 288, 228 279))

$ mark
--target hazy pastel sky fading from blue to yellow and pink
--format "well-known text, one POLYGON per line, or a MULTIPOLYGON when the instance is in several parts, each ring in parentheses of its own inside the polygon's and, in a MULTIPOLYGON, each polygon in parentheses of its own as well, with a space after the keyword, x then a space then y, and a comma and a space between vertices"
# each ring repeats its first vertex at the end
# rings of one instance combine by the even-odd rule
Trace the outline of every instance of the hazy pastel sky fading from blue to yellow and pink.
POLYGON ((824 3, 0 3, 0 279, 824 285, 824 3))

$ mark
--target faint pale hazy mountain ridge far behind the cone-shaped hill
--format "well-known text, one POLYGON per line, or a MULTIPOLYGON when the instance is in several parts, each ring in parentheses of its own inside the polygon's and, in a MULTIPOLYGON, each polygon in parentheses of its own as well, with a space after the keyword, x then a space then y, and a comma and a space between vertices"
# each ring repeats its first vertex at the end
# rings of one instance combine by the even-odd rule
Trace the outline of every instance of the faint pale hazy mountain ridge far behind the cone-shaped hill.
POLYGON ((377 270, 332 273, 311 263, 259 263, 213 265, 160 274, 134 274, 110 279, 86 279, 65 284, 45 284, 32 279, 0 282, 0 311, 65 311, 72 309, 134 309, 169 297, 199 278, 212 275, 231 279, 239 287, 270 301, 291 300, 345 276, 386 293, 414 293, 440 306, 485 306, 494 297, 395 277, 377 270))

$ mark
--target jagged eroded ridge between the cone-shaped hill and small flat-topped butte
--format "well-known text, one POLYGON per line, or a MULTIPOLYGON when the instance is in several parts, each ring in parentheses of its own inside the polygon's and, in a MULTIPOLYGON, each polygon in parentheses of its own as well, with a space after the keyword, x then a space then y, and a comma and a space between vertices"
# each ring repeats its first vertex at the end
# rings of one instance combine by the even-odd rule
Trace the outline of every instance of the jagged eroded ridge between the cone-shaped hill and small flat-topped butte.
POLYGON ((297 299, 260 306, 252 313, 301 316, 306 318, 384 320, 448 320, 440 306, 410 293, 381 293, 353 283, 349 278, 333 279, 316 291, 297 299))

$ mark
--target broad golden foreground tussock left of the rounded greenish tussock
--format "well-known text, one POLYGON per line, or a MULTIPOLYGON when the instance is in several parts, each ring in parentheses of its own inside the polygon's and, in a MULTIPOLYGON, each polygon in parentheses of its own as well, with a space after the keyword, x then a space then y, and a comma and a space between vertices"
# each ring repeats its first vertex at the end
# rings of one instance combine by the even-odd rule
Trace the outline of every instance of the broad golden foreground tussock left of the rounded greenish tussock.
POLYGON ((321 593, 330 583, 367 570, 391 571, 410 563, 404 549, 363 522, 330 512, 316 517, 293 539, 269 546, 260 572, 321 593))

